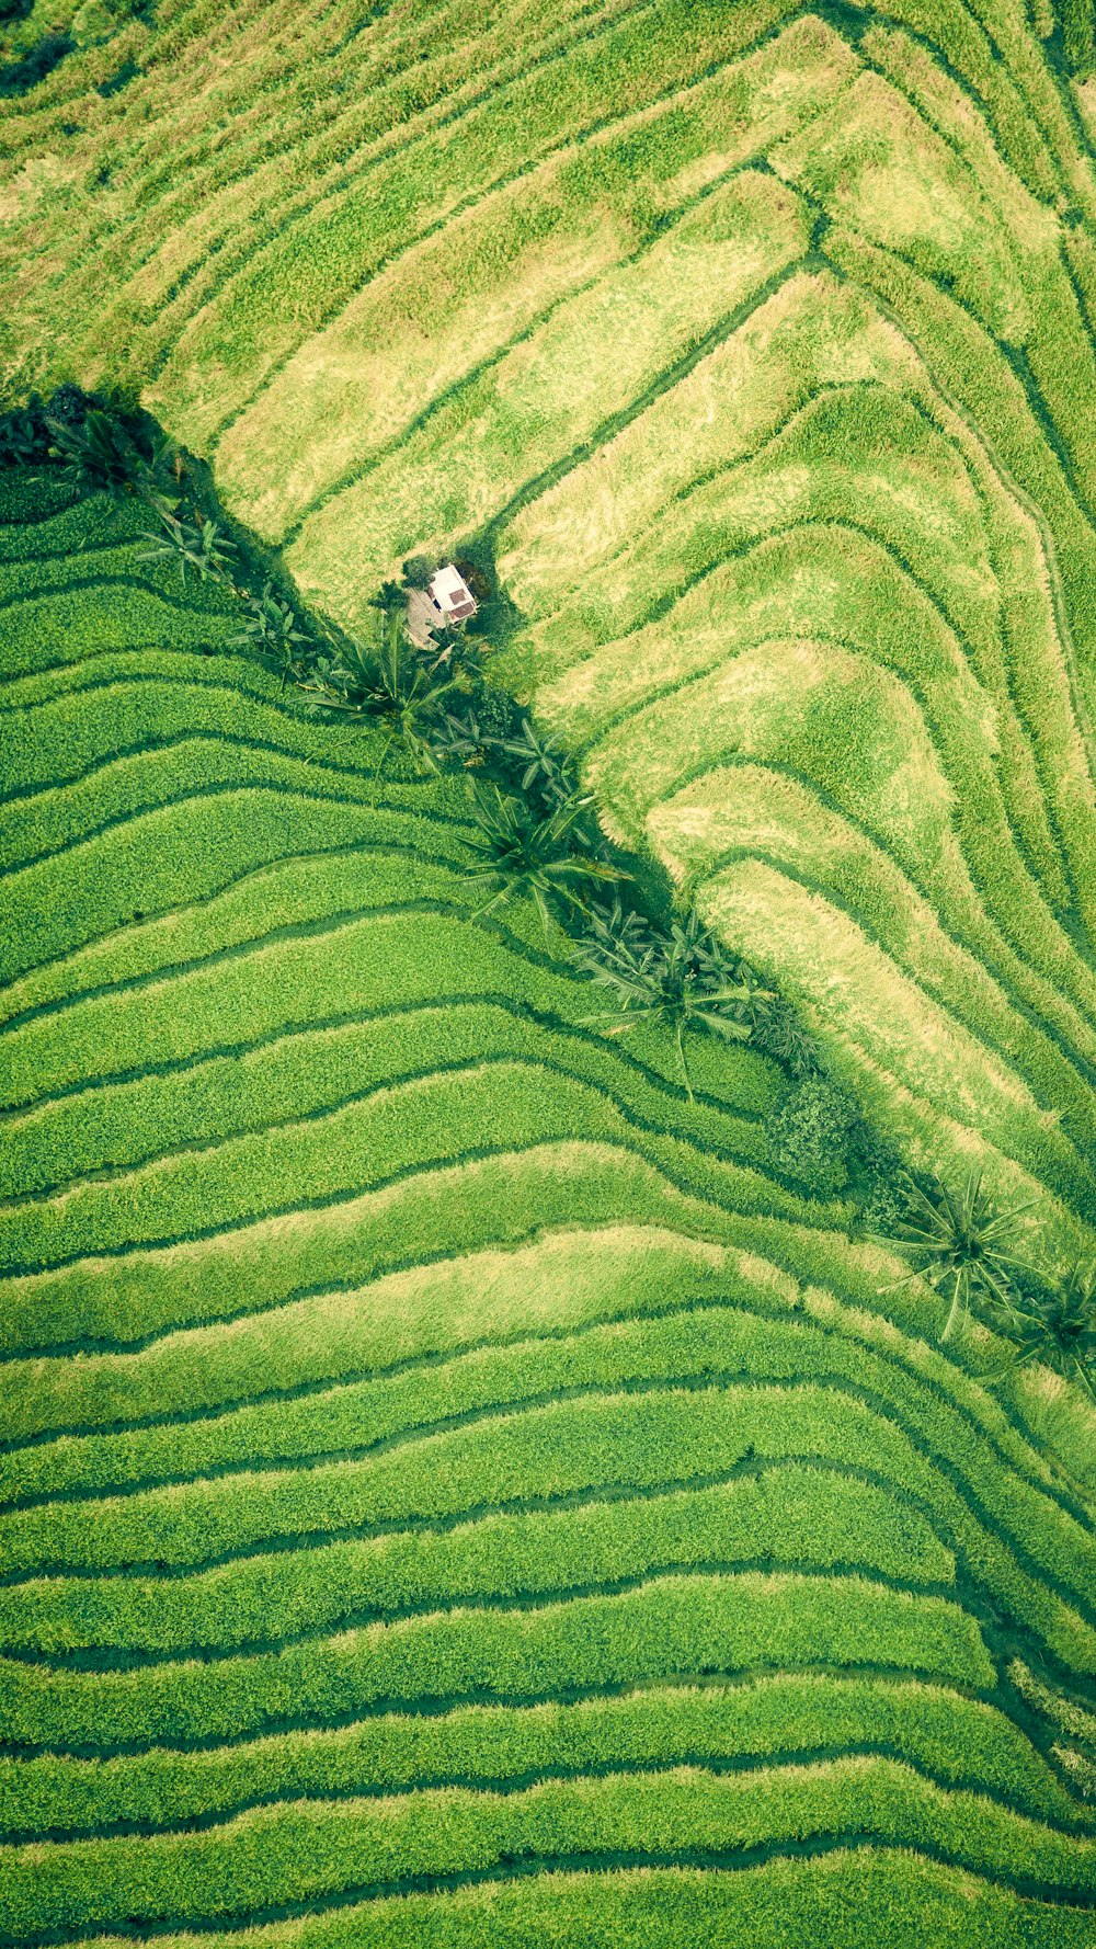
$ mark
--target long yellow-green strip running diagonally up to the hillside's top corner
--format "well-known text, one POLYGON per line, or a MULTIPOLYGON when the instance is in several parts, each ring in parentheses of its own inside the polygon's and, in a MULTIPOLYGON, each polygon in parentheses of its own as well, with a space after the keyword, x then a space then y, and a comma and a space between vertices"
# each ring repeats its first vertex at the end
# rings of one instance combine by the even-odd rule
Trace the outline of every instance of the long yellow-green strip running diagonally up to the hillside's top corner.
POLYGON ((817 21, 802 21, 741 64, 718 68, 571 152, 552 152, 478 201, 372 279, 234 419, 216 450, 232 497, 263 532, 294 534, 318 501, 351 485, 386 442, 406 437, 458 384, 542 329, 558 304, 589 288, 612 263, 642 255, 649 228, 665 226, 710 189, 704 152, 716 138, 718 168, 727 173, 766 138, 817 113, 823 92, 846 74, 841 43, 817 21), (638 201, 640 175, 649 214, 638 201), (415 316, 454 255, 462 271, 445 341, 433 333, 419 364, 408 363, 406 351, 394 361, 394 322, 415 316), (501 277, 507 310, 497 298, 501 277), (314 429, 304 476, 296 442, 287 437, 302 413, 314 429))

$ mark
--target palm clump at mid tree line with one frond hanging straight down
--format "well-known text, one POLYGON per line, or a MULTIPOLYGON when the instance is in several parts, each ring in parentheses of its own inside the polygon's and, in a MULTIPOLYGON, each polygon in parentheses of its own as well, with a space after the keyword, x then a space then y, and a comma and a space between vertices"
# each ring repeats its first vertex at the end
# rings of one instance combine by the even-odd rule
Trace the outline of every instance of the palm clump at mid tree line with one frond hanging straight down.
POLYGON ((610 908, 589 912, 587 932, 573 959, 585 974, 612 992, 616 1004, 591 1015, 591 1021, 610 1035, 622 1035, 640 1021, 673 1031, 690 1097, 686 1029, 747 1043, 774 1000, 753 971, 708 934, 696 912, 671 922, 663 932, 616 898, 610 908))

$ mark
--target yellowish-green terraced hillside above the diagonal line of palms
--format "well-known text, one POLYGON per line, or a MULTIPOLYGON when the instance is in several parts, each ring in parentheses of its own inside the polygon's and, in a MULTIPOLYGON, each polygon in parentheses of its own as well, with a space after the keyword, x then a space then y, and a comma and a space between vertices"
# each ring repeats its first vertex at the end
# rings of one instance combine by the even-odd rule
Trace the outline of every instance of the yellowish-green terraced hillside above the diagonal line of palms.
POLYGON ((1088 97, 1012 0, 825 12, 164 12, 10 117, 0 343, 140 384, 343 622, 495 559, 610 826, 1088 1249, 1088 97))

